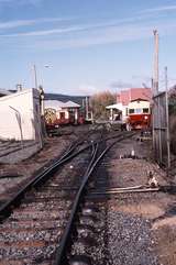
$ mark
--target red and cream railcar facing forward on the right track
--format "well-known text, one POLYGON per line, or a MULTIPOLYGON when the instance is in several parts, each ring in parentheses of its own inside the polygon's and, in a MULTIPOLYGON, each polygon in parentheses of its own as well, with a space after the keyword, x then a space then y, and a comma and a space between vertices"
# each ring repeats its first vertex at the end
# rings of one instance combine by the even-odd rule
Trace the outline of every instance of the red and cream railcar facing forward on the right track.
POLYGON ((132 100, 129 103, 128 123, 131 129, 147 129, 151 125, 150 101, 144 99, 132 100))

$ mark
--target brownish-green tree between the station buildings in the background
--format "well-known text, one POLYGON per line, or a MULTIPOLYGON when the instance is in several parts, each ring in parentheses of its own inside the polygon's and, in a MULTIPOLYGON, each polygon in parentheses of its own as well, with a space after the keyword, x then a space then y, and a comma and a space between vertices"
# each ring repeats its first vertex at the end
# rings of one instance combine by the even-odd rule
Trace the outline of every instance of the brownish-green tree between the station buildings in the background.
POLYGON ((108 90, 94 95, 90 99, 91 108, 94 111, 94 118, 107 119, 108 111, 106 110, 106 107, 116 103, 116 93, 111 93, 108 90))

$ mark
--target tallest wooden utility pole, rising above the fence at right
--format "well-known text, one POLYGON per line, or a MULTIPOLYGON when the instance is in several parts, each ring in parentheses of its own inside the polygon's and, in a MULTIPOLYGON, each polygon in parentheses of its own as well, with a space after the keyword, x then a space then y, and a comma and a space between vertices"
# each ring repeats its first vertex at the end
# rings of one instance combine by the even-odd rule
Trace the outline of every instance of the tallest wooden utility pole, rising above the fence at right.
POLYGON ((153 31, 154 33, 154 80, 153 80, 153 95, 158 93, 158 33, 157 30, 153 31))

